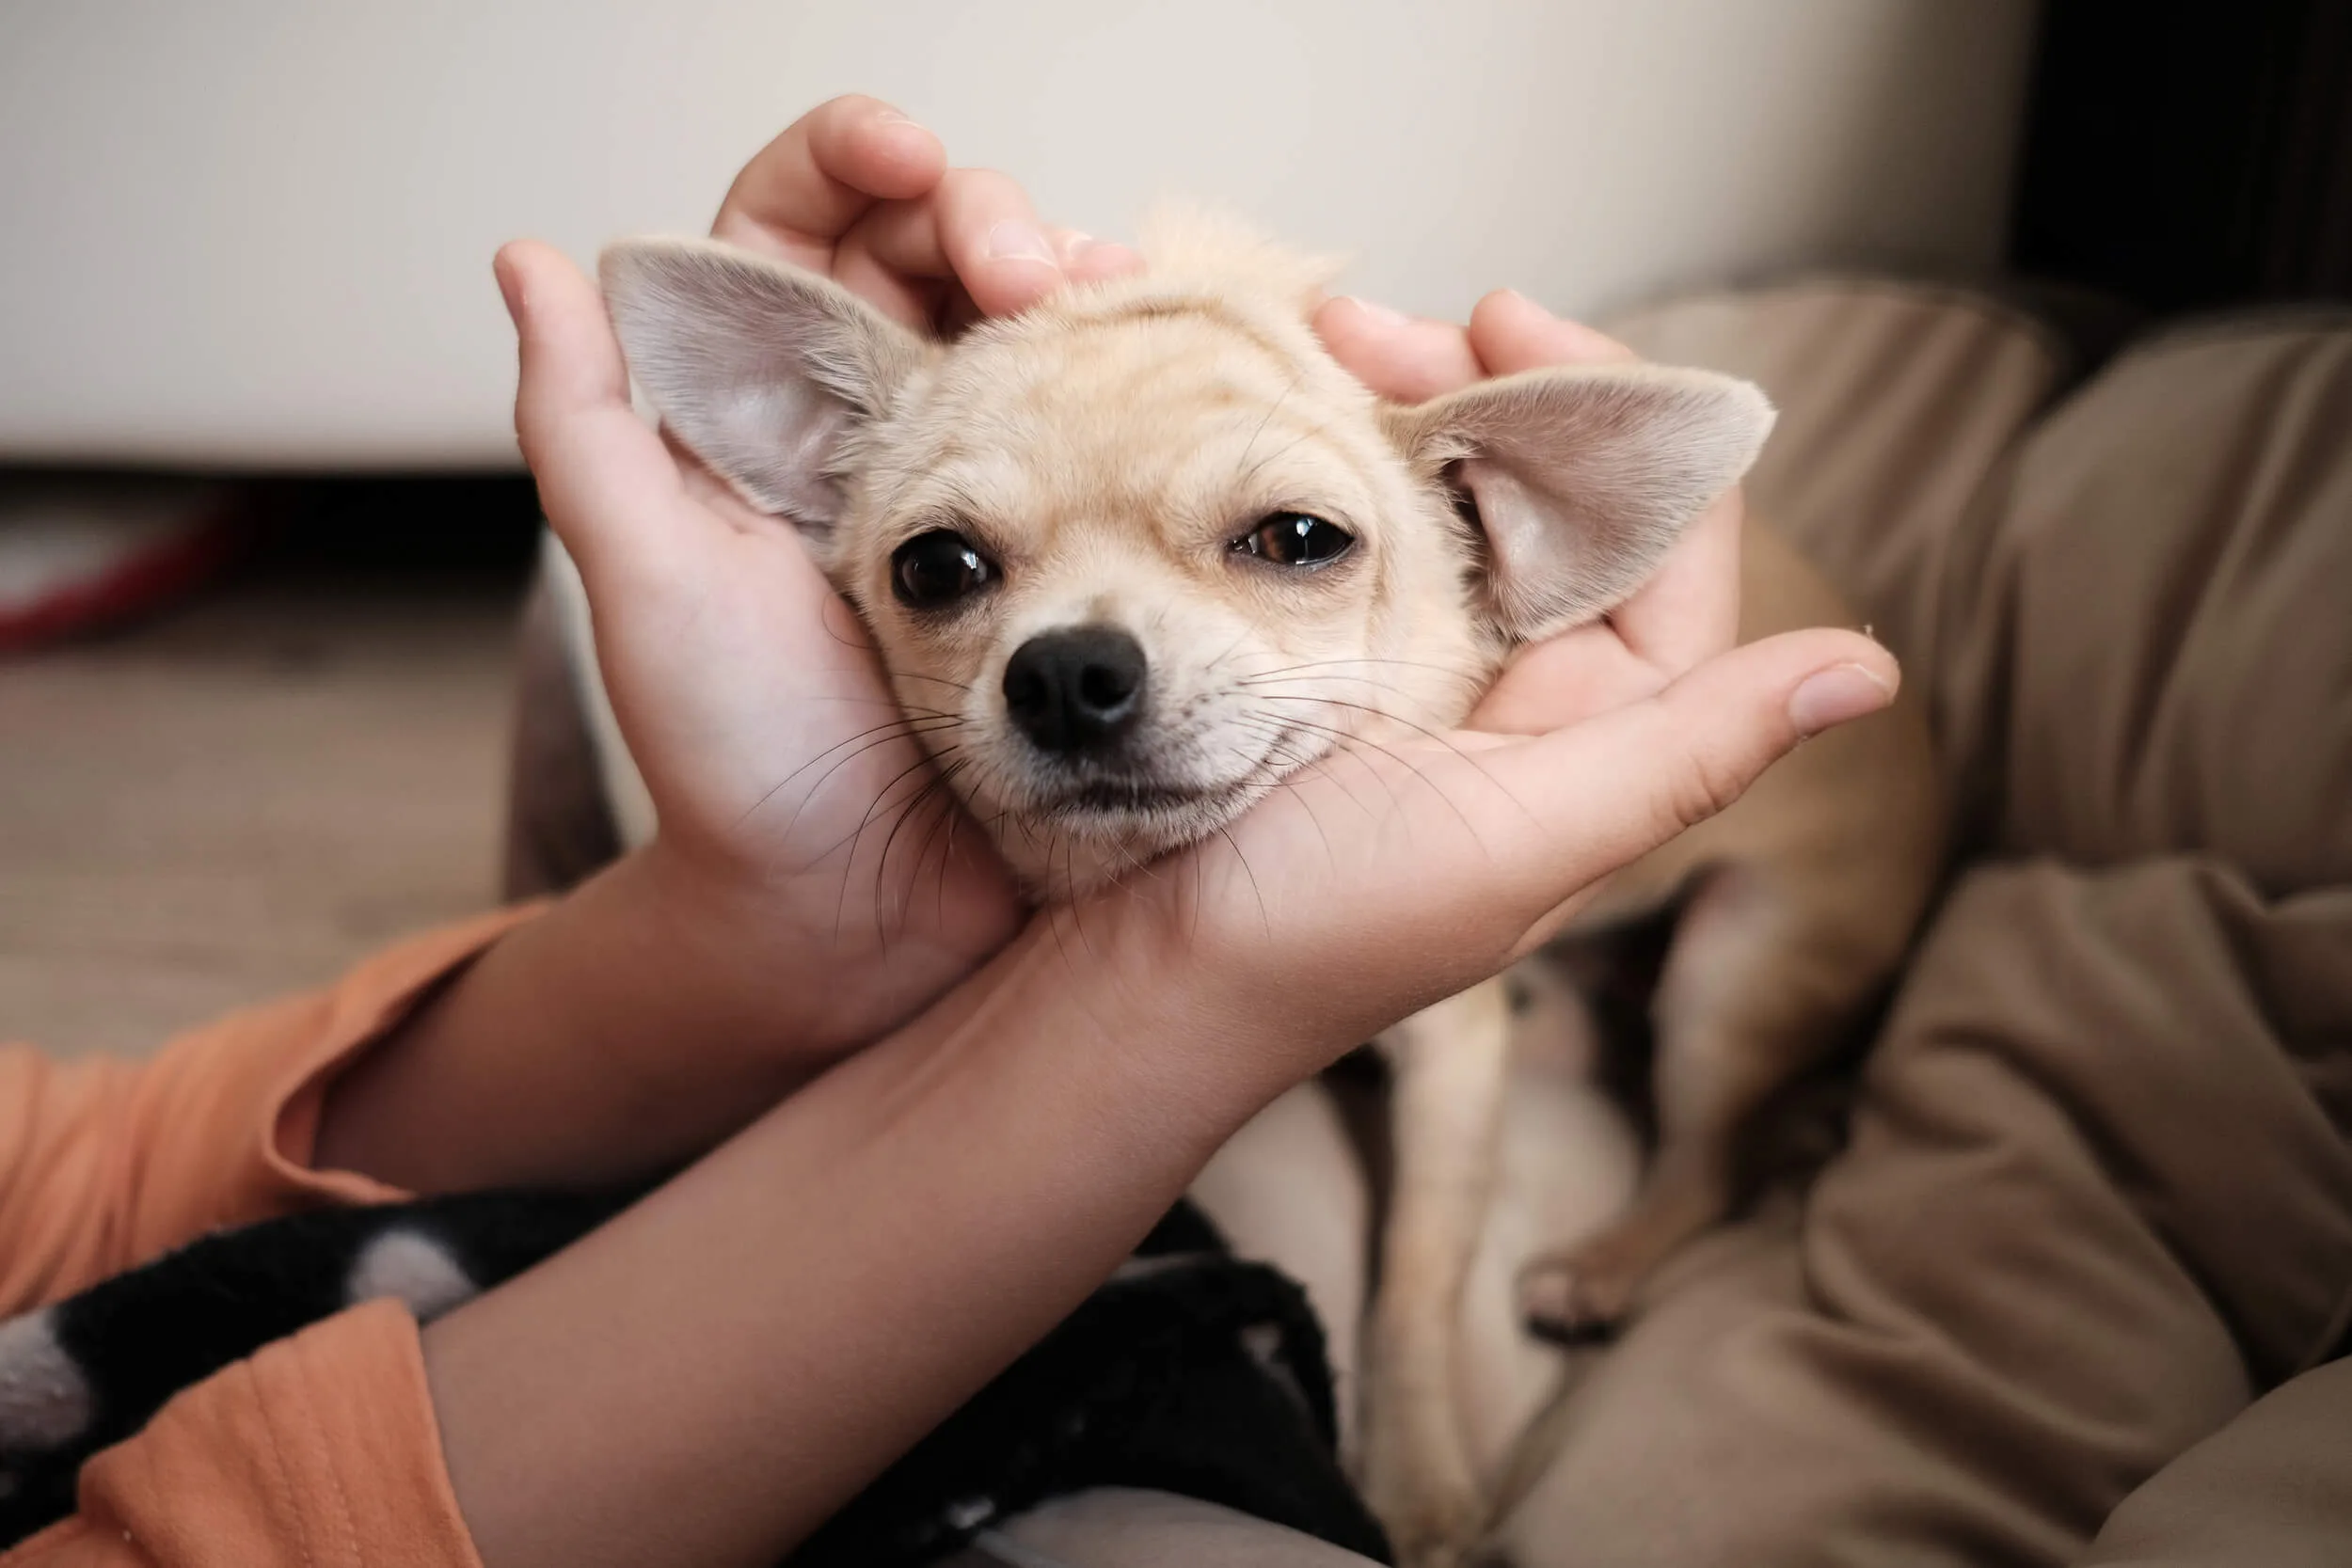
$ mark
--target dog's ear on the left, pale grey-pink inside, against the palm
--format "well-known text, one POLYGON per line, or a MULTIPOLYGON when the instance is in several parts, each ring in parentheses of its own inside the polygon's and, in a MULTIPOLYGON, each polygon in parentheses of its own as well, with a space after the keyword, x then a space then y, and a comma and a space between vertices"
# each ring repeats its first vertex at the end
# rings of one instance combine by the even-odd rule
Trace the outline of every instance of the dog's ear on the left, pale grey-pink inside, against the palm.
POLYGON ((597 259, 628 371, 670 433, 762 512, 826 536, 844 437, 931 346, 840 284, 710 240, 626 240, 597 259))

